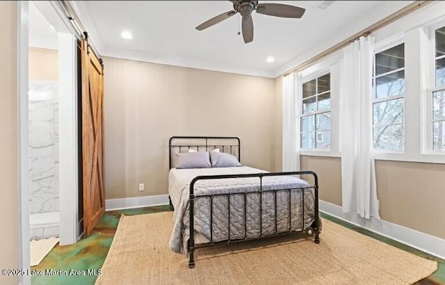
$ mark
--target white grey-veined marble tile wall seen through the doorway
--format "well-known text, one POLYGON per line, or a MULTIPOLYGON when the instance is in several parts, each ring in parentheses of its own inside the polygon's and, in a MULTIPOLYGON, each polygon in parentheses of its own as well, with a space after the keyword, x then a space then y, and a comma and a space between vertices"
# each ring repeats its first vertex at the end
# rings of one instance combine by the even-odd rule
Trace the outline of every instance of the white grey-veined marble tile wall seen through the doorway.
POLYGON ((29 82, 29 213, 58 211, 56 81, 29 82))

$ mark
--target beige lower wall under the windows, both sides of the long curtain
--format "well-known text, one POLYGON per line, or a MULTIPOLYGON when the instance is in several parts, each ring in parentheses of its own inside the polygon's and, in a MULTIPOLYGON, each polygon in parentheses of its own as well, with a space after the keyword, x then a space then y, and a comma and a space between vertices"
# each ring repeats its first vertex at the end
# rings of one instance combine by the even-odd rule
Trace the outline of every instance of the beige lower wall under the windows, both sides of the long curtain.
MULTIPOLYGON (((319 177, 320 199, 341 206, 341 159, 301 156, 302 169, 319 177)), ((380 218, 445 238, 445 165, 376 161, 380 218)))

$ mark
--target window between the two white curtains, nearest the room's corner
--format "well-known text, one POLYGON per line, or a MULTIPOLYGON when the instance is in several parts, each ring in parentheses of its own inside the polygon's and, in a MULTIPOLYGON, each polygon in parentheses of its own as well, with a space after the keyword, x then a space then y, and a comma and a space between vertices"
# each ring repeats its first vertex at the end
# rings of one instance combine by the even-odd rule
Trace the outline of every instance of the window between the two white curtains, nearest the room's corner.
POLYGON ((330 73, 302 84, 300 145, 303 149, 331 146, 330 73))

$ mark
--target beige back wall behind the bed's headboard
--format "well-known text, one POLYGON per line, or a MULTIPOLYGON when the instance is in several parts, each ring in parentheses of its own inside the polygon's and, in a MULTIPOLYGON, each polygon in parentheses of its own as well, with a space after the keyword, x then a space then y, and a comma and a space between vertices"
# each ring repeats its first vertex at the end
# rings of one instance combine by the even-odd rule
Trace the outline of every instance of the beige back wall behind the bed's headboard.
POLYGON ((106 199, 168 193, 170 136, 238 136, 244 165, 275 168, 274 79, 118 58, 104 65, 106 199))

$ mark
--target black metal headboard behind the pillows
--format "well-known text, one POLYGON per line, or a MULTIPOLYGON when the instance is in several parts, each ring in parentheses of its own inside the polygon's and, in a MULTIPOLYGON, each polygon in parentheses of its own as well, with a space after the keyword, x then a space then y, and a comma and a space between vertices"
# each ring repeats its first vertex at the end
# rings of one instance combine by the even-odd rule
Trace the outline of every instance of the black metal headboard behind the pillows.
POLYGON ((173 154, 188 152, 188 149, 209 152, 219 148, 221 152, 232 154, 241 162, 241 141, 229 136, 172 136, 168 140, 169 169, 172 169, 173 154))

